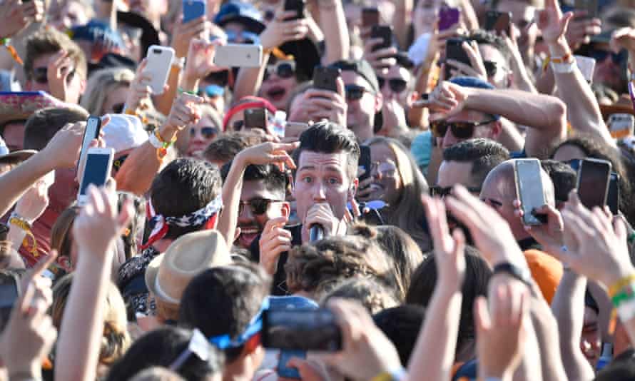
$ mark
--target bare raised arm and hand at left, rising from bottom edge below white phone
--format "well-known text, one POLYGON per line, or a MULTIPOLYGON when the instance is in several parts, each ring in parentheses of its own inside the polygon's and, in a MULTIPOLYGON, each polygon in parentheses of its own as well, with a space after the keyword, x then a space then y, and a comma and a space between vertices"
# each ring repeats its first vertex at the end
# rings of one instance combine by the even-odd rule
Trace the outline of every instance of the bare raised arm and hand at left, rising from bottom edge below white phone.
POLYGON ((114 188, 89 186, 88 198, 73 223, 78 263, 56 347, 56 380, 95 380, 115 240, 133 215, 131 200, 117 213, 114 188))

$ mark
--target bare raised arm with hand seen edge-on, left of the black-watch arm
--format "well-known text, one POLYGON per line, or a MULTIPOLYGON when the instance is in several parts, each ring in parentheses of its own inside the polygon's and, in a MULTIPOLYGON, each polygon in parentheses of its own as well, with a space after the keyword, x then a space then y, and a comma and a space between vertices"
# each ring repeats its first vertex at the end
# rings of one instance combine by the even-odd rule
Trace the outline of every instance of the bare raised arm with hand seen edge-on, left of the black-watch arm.
POLYGON ((439 278, 427 308, 426 319, 410 357, 410 380, 449 380, 457 347, 465 272, 464 242, 459 230, 449 235, 445 205, 423 196, 430 232, 435 242, 439 278))

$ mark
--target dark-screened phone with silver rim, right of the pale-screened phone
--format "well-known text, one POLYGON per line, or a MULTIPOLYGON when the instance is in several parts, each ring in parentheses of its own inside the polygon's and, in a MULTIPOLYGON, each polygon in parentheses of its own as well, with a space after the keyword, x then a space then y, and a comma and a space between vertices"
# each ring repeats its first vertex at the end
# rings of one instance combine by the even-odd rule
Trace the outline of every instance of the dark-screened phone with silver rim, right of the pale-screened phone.
POLYGON ((611 163, 606 160, 586 158, 580 162, 578 169, 578 195, 586 208, 606 205, 606 194, 609 192, 611 163))

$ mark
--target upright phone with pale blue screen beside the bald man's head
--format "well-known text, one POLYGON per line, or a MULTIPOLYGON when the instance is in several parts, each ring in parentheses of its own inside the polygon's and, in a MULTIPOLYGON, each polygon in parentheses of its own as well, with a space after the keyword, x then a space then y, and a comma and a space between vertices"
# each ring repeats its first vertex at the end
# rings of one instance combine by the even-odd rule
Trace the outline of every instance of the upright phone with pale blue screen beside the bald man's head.
POLYGON ((542 176, 538 159, 518 159, 514 161, 516 192, 522 205, 522 223, 542 225, 547 216, 536 213, 536 209, 547 203, 542 189, 542 176))

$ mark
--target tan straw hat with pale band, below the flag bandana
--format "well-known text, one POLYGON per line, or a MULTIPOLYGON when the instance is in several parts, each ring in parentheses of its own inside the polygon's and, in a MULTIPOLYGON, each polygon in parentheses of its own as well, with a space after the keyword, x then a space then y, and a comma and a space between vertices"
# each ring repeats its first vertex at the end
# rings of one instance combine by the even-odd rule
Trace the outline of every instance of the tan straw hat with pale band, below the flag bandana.
POLYGON ((178 305, 190 280, 208 268, 229 265, 230 252, 215 230, 189 233, 175 240, 146 269, 146 285, 156 299, 178 305))

